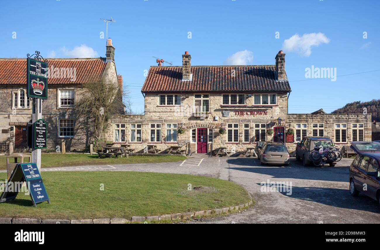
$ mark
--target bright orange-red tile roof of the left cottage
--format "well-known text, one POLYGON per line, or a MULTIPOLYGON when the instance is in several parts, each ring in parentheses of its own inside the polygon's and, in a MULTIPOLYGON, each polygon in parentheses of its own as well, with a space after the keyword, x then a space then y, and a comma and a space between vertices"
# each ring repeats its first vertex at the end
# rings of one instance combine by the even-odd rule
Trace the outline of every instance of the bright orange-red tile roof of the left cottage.
MULTIPOLYGON (((87 81, 100 79, 106 67, 105 59, 101 58, 68 58, 47 59, 50 69, 68 68, 72 76, 64 77, 63 74, 55 74, 49 77, 48 84, 80 84, 87 81)), ((62 71, 63 73, 63 71, 62 71)), ((25 84, 26 82, 26 59, 0 59, 0 84, 25 84)))

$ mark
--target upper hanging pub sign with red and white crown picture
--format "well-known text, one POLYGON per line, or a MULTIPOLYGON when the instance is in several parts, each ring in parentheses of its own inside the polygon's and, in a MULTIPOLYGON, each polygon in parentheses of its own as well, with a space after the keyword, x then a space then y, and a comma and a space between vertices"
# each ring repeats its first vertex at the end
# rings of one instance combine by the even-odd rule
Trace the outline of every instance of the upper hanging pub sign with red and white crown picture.
POLYGON ((36 51, 35 59, 27 58, 27 97, 47 99, 47 63, 36 51))

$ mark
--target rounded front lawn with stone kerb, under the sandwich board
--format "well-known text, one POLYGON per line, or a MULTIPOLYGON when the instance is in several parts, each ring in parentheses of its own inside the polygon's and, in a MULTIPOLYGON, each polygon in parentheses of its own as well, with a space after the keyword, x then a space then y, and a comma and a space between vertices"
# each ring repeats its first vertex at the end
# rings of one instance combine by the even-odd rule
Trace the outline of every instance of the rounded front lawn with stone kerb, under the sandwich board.
MULTIPOLYGON (((5 181, 6 173, 0 173, 5 181)), ((187 174, 127 171, 43 172, 50 204, 32 206, 29 195, 0 203, 0 217, 130 218, 244 204, 249 195, 226 180, 187 174), (100 190, 104 184, 104 190, 100 190), (188 184, 192 190, 188 191, 188 184), (197 189, 195 187, 203 187, 197 189), (195 188, 195 189, 194 189, 195 188)))

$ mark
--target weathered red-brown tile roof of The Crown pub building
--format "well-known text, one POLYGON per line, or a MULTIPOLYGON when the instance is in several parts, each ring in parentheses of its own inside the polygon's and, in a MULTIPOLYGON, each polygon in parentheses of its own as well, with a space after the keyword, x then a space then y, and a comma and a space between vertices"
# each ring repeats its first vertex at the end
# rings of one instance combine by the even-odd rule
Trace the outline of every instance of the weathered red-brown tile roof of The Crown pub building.
POLYGON ((290 92, 278 81, 275 65, 192 66, 192 80, 182 81, 182 66, 151 66, 141 92, 290 92))

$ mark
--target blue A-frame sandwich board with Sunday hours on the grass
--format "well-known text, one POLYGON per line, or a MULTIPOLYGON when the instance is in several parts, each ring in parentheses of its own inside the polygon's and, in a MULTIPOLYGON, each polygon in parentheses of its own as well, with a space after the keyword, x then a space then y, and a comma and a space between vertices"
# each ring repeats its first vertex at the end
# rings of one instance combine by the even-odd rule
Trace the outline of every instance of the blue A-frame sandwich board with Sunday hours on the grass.
POLYGON ((5 186, 5 190, 0 196, 0 203, 16 199, 24 182, 27 184, 33 206, 37 207, 38 203, 44 201, 50 203, 36 163, 20 163, 16 165, 5 186))

